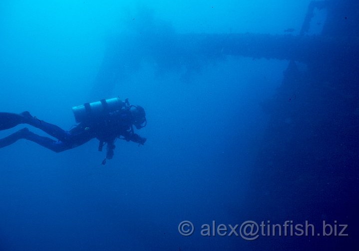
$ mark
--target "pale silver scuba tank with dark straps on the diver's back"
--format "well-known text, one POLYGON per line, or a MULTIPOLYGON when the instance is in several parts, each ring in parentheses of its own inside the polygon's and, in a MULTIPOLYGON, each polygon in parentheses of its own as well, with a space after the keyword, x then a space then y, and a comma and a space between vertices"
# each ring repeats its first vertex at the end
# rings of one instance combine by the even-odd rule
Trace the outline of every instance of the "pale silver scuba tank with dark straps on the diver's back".
POLYGON ((108 113, 121 110, 128 103, 121 101, 120 98, 102 99, 93 103, 85 103, 80 106, 72 107, 76 123, 87 122, 89 120, 99 119, 108 113))

